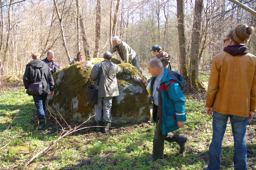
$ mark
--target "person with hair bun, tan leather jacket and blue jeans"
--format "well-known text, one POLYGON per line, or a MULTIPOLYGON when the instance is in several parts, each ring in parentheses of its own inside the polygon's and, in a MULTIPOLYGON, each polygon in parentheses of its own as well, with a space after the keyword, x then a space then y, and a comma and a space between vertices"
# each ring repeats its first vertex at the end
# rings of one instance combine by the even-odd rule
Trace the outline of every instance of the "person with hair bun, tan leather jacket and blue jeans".
POLYGON ((221 143, 230 118, 234 137, 234 169, 247 170, 245 132, 256 106, 256 57, 244 43, 254 28, 245 24, 230 29, 223 39, 223 52, 213 59, 206 98, 206 112, 213 117, 209 164, 204 170, 220 169, 221 143))

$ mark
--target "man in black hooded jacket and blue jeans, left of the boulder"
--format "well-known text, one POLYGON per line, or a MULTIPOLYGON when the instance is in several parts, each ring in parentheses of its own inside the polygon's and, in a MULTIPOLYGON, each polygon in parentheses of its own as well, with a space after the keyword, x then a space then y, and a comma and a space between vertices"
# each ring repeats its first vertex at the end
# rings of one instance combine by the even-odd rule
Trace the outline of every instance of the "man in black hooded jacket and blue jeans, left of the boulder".
POLYGON ((40 60, 40 53, 32 53, 32 61, 26 65, 26 70, 23 76, 23 82, 25 89, 28 89, 28 85, 31 82, 39 82, 42 79, 42 94, 33 96, 36 113, 39 119, 39 129, 46 129, 46 118, 45 118, 45 101, 48 93, 53 96, 54 92, 54 81, 50 68, 43 61, 40 60), (43 74, 43 76, 42 76, 43 74))

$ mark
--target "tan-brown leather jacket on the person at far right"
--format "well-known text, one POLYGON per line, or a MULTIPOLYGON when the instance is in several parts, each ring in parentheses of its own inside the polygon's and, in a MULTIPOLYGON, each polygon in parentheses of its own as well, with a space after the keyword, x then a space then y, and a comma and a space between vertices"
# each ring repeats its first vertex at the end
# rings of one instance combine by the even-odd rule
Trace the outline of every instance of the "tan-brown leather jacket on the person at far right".
POLYGON ((222 114, 248 117, 256 106, 256 57, 221 52, 213 59, 206 107, 222 114))

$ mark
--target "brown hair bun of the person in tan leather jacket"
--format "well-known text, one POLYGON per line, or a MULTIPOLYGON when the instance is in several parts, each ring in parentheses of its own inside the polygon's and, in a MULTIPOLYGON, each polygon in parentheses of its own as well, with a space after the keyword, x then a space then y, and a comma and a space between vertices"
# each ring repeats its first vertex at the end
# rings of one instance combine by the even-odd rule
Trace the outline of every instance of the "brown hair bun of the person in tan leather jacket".
POLYGON ((253 34, 254 27, 248 27, 246 24, 236 25, 233 32, 233 37, 239 44, 244 44, 249 41, 253 34))

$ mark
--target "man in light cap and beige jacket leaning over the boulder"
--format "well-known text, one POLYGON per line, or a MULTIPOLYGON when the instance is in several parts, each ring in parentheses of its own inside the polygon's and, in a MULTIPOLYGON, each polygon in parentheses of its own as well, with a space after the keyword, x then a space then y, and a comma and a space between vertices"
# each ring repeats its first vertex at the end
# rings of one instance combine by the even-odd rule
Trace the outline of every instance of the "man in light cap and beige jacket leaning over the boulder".
POLYGON ((110 49, 111 54, 118 52, 119 56, 125 63, 132 63, 140 73, 144 76, 141 69, 139 68, 138 59, 136 52, 125 42, 121 41, 118 36, 112 37, 113 46, 110 49))

